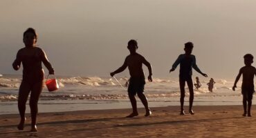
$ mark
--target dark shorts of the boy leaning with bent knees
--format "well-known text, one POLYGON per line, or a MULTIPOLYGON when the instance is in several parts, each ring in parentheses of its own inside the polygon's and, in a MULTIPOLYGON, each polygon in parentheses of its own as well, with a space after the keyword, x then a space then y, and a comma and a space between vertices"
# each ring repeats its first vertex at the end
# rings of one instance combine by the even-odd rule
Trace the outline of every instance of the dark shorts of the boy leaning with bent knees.
POLYGON ((145 78, 130 78, 128 93, 131 95, 136 95, 136 93, 143 93, 145 83, 145 78))

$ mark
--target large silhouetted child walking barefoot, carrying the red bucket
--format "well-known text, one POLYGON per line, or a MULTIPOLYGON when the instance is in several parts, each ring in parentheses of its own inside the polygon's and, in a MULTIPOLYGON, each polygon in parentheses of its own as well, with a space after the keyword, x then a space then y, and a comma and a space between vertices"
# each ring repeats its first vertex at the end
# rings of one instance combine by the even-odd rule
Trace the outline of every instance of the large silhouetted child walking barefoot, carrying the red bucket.
POLYGON ((24 129, 24 124, 26 121, 26 101, 28 99, 28 95, 30 94, 30 131, 37 132, 37 103, 44 83, 44 70, 42 68, 42 62, 44 63, 44 66, 46 66, 46 68, 49 70, 50 75, 54 75, 54 70, 51 66, 51 63, 48 61, 44 50, 36 46, 37 33, 35 32, 35 29, 28 28, 23 34, 23 41, 25 47, 21 48, 17 52, 17 57, 12 63, 12 67, 15 70, 19 70, 21 63, 23 66, 23 77, 19 87, 18 97, 18 108, 21 119, 17 128, 19 130, 24 129))

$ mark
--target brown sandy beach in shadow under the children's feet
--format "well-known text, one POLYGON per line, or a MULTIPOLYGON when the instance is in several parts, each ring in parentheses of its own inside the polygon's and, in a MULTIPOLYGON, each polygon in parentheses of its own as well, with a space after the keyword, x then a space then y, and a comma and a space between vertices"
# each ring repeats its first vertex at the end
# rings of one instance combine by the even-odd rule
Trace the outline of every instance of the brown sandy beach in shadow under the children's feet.
MULTIPOLYGON (((125 118, 131 109, 39 113, 37 128, 17 130, 19 115, 1 115, 0 137, 255 137, 253 117, 242 117, 242 106, 194 106, 195 115, 179 115, 179 106, 152 108, 152 116, 125 118)), ((185 107, 188 109, 188 107, 185 107)))

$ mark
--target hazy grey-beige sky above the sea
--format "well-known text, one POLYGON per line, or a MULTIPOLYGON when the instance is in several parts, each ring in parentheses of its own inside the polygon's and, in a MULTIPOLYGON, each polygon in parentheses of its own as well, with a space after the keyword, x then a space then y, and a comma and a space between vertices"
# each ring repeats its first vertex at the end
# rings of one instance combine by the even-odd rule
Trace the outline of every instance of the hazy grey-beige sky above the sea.
POLYGON ((170 67, 192 41, 203 72, 235 79, 243 56, 256 57, 255 7, 242 0, 1 0, 0 74, 21 74, 11 64, 33 27, 56 75, 109 76, 129 55, 127 41, 137 39, 154 77, 178 77, 170 67))

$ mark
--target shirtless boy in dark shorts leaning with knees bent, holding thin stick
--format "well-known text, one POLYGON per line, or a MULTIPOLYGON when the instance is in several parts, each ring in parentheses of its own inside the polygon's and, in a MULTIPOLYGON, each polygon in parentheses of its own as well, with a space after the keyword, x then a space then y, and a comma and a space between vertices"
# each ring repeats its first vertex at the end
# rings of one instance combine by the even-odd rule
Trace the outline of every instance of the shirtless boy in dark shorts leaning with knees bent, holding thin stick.
POLYGON ((129 99, 131 101, 132 106, 132 112, 127 117, 135 117, 138 116, 138 110, 137 110, 137 104, 136 104, 136 98, 135 95, 137 94, 140 100, 143 102, 143 105, 146 109, 145 117, 152 114, 152 112, 149 110, 148 104, 147 104, 147 97, 143 94, 144 86, 145 86, 145 75, 143 72, 143 63, 145 66, 147 66, 149 70, 149 76, 147 77, 149 82, 152 82, 152 67, 150 63, 142 56, 139 55, 136 50, 138 49, 137 41, 131 39, 128 42, 127 48, 130 51, 130 55, 128 55, 125 59, 125 63, 118 68, 118 70, 111 72, 110 75, 113 77, 113 75, 116 75, 119 72, 122 72, 125 70, 125 68, 128 67, 129 73, 131 75, 131 78, 129 79, 129 86, 128 86, 128 95, 129 99))

